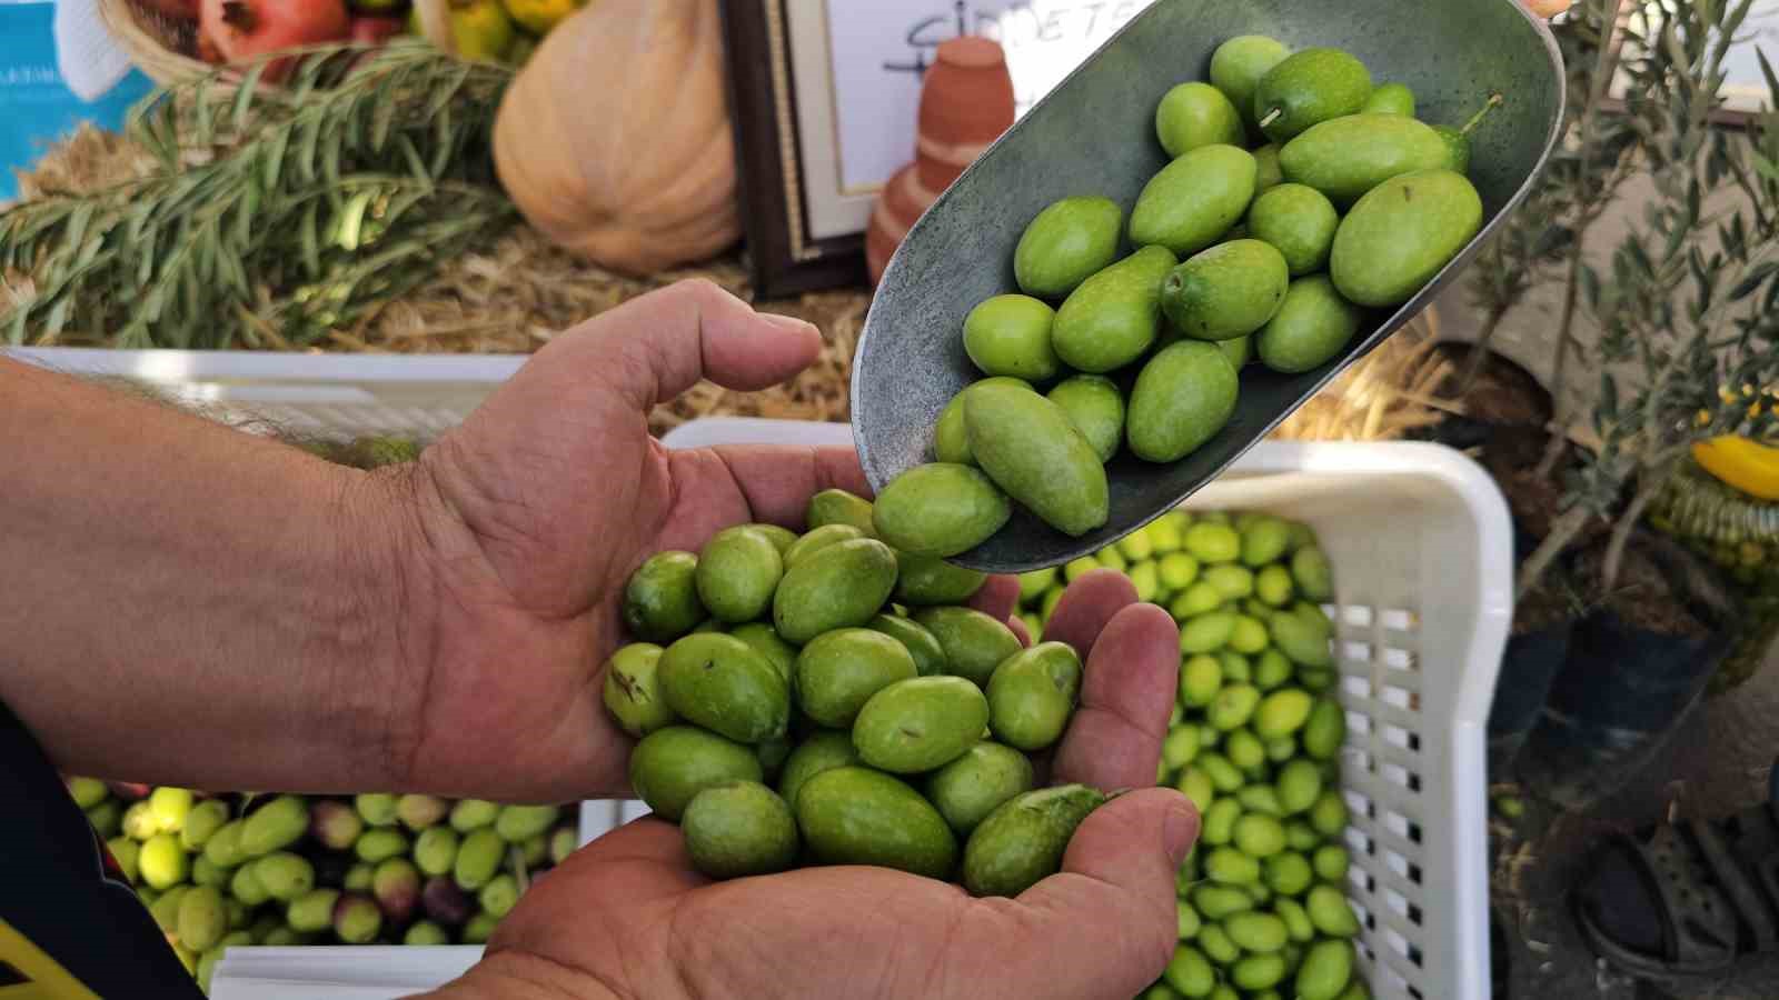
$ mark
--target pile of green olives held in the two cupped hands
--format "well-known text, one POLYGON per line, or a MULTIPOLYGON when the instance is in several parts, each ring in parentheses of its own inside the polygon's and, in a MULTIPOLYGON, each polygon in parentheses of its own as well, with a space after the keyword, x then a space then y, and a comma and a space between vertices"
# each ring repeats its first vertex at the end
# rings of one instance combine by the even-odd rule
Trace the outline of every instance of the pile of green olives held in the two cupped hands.
POLYGON ((1028 754, 1075 714, 1075 648, 964 607, 986 577, 884 544, 886 516, 831 489, 801 536, 742 525, 630 578, 639 641, 605 705, 640 738, 637 795, 713 879, 877 865, 1010 897, 1105 802, 1034 786, 1028 754))

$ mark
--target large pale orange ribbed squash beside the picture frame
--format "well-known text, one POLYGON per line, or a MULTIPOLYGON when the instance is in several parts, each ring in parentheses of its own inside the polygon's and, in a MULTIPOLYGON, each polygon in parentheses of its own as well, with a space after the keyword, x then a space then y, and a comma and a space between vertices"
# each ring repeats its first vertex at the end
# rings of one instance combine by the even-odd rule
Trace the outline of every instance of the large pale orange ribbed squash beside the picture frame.
POLYGON ((507 194, 551 242, 624 274, 740 235, 717 0, 592 0, 544 37, 495 121, 507 194))

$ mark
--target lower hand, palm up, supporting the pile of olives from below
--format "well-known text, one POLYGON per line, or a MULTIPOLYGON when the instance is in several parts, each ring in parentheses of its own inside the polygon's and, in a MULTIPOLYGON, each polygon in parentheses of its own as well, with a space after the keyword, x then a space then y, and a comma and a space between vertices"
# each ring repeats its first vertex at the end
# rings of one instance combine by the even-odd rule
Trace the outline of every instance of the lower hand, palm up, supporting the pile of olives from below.
MULTIPOLYGON (((1099 569, 1069 587, 1044 639, 1087 664, 1055 779, 1153 785, 1179 665, 1172 619, 1099 569)), ((432 1000, 1130 1000, 1172 954, 1174 872, 1197 827, 1178 792, 1124 794, 1080 826, 1062 874, 1019 899, 971 899, 866 867, 713 884, 678 827, 640 819, 532 886, 484 961, 432 1000)))

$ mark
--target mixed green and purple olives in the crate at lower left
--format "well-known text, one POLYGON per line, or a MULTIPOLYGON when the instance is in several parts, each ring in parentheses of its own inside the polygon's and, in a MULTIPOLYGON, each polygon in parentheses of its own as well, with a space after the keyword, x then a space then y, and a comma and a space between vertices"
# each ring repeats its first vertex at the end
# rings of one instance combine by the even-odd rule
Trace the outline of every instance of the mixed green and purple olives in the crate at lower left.
POLYGON ((205 991, 235 947, 480 945, 578 843, 559 806, 66 783, 205 991))

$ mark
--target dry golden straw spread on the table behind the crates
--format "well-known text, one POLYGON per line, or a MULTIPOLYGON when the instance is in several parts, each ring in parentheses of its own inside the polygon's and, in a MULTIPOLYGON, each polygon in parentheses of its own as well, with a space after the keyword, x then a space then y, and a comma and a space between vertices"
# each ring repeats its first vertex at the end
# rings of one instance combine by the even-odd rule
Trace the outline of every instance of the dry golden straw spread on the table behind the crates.
MULTIPOLYGON (((20 198, 80 194, 141 178, 157 162, 130 141, 80 128, 20 176, 20 198)), ((336 329, 324 351, 390 354, 528 354, 559 331, 628 299, 685 278, 708 278, 765 311, 801 317, 822 331, 815 365, 795 379, 756 393, 701 383, 651 415, 655 432, 699 416, 850 418, 847 388, 852 352, 870 306, 870 292, 847 288, 788 301, 758 301, 740 254, 648 279, 614 274, 578 260, 528 226, 514 226, 487 246, 464 247, 425 286, 354 329, 336 329)), ((276 329, 262 333, 281 345, 276 329)), ((1434 397, 1445 381, 1430 363, 1437 319, 1425 313, 1384 342, 1292 415, 1272 436, 1281 440, 1377 441, 1437 423, 1453 404, 1434 397)))

